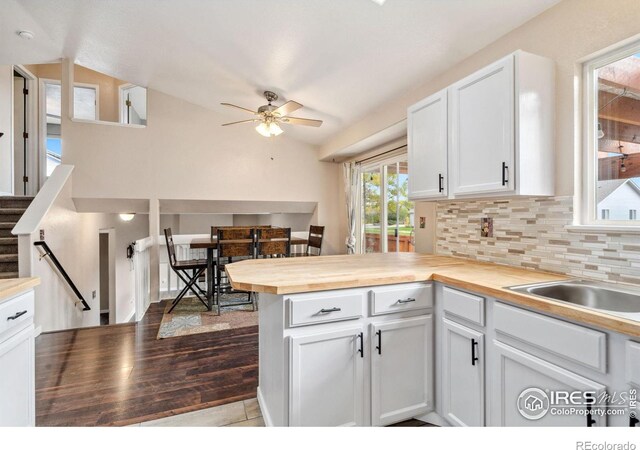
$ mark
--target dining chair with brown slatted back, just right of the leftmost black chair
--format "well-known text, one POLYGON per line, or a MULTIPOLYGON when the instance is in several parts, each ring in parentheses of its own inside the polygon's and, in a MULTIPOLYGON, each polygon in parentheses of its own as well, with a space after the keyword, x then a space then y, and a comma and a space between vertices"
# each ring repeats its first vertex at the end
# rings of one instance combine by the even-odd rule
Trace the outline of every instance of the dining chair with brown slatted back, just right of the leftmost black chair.
POLYGON ((215 304, 220 308, 220 295, 224 293, 246 293, 248 295, 246 303, 234 303, 237 305, 252 304, 254 311, 256 303, 253 299, 253 293, 250 291, 234 290, 229 282, 229 277, 225 271, 225 265, 232 263, 234 260, 253 259, 255 257, 256 232, 253 228, 218 228, 217 235, 217 252, 216 252, 216 298, 215 304))

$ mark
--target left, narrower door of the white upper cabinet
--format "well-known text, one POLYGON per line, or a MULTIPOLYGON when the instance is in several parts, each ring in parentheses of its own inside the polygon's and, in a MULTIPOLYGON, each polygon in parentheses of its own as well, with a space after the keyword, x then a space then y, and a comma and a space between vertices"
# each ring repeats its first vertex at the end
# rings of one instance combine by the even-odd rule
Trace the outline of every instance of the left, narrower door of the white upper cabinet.
POLYGON ((407 111, 409 198, 447 196, 447 91, 407 111))

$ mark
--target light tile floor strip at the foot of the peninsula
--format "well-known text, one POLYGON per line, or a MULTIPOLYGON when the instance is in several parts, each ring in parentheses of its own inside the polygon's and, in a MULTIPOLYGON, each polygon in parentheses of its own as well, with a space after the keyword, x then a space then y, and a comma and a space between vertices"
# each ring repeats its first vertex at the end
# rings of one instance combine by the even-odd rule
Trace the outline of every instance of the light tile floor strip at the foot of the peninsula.
POLYGON ((130 425, 132 427, 263 427, 255 398, 130 425))

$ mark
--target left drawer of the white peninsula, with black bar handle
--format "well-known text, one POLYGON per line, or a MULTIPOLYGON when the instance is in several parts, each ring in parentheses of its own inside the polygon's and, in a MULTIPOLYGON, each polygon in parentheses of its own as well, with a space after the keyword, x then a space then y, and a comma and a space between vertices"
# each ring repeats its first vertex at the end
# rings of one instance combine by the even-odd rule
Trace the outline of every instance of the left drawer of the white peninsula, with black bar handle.
POLYGON ((323 322, 362 317, 363 292, 327 295, 302 295, 288 299, 289 326, 299 327, 323 322))

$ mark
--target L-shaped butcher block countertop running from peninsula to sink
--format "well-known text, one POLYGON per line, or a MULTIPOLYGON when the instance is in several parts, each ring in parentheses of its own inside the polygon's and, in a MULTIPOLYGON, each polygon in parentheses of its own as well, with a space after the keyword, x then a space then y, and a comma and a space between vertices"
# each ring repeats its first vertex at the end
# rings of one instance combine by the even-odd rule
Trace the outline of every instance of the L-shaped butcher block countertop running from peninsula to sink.
POLYGON ((439 281, 576 322, 640 337, 640 322, 506 287, 569 277, 450 256, 416 253, 315 256, 241 261, 226 271, 235 289, 296 294, 412 281, 439 281))

